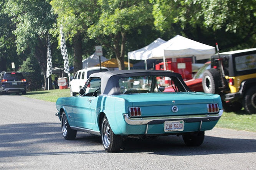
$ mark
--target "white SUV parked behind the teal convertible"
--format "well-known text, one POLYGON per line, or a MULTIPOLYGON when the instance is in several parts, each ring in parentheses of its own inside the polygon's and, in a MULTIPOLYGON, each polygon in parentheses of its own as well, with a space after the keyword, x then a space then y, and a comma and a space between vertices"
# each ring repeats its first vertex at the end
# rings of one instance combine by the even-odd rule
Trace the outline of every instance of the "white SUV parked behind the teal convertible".
MULTIPOLYGON (((109 69, 106 67, 101 67, 101 71, 109 71, 109 69)), ((84 84, 89 78, 89 75, 91 75, 92 73, 98 73, 98 72, 100 72, 99 67, 84 68, 76 72, 74 79, 69 83, 70 96, 76 96, 76 94, 79 93, 79 90, 84 87, 84 84)))

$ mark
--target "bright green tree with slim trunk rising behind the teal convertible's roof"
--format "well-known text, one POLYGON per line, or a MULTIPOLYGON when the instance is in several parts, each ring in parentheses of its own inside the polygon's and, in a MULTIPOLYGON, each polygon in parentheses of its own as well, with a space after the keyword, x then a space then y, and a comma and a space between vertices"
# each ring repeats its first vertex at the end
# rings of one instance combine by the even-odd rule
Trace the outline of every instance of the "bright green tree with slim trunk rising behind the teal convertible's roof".
POLYGON ((99 19, 88 29, 89 36, 110 48, 123 70, 127 34, 152 23, 151 5, 147 0, 98 0, 97 7, 99 19))

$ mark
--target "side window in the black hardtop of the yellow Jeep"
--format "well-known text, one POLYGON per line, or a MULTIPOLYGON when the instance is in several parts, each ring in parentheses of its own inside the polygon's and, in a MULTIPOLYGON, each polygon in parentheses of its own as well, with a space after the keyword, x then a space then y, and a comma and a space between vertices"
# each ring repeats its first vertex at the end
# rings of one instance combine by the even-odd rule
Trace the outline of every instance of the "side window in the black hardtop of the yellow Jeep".
POLYGON ((256 54, 235 57, 236 71, 256 69, 256 54))

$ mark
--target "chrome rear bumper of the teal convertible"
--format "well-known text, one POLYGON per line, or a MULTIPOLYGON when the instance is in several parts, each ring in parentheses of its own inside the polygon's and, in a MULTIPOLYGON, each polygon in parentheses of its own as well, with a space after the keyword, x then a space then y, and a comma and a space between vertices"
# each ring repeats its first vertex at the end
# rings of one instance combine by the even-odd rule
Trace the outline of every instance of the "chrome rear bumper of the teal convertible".
POLYGON ((156 125, 162 124, 165 121, 184 120, 187 123, 200 122, 200 121, 216 121, 219 120, 223 110, 216 114, 204 115, 184 115, 184 116, 166 116, 166 117, 144 117, 144 118, 131 118, 128 114, 123 114, 124 120, 128 125, 156 125))

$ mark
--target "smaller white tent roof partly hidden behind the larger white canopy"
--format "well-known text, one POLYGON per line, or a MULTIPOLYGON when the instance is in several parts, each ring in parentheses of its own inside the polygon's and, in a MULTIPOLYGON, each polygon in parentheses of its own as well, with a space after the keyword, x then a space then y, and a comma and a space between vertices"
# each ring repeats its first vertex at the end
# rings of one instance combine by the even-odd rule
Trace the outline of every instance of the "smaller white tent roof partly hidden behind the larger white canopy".
POLYGON ((152 57, 151 51, 159 45, 164 44, 165 42, 165 40, 158 38, 146 47, 143 47, 139 50, 128 52, 128 58, 132 60, 147 60, 150 57, 152 57))

